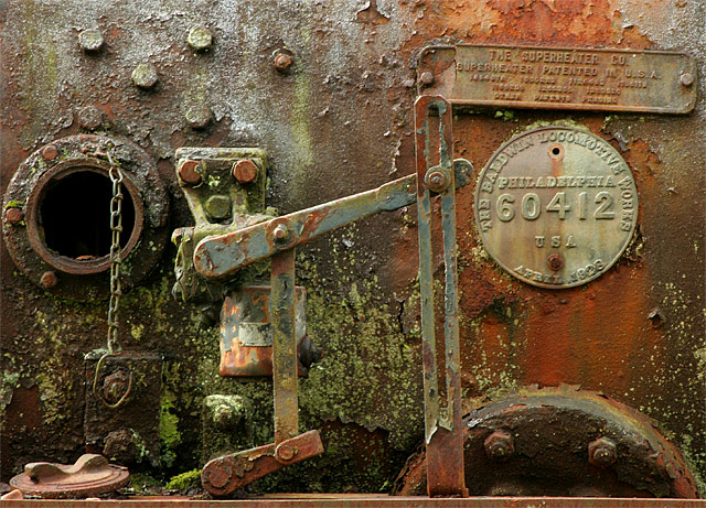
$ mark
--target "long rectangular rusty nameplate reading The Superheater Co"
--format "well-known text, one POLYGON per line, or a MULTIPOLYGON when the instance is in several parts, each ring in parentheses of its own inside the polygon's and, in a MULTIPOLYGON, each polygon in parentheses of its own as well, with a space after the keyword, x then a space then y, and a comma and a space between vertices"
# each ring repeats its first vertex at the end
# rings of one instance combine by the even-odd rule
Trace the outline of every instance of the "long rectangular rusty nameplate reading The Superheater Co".
POLYGON ((686 114, 696 104, 696 62, 683 53, 459 44, 425 50, 418 73, 421 93, 456 105, 686 114))

